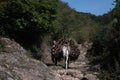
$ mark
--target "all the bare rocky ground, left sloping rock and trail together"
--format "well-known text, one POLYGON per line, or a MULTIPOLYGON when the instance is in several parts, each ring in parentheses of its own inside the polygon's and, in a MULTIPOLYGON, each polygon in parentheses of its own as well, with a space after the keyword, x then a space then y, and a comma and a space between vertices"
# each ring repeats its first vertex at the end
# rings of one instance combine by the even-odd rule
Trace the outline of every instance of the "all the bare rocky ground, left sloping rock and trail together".
MULTIPOLYGON (((45 45, 44 45, 45 46, 45 45)), ((26 55, 14 40, 0 38, 0 80, 99 80, 98 67, 90 67, 86 59, 87 46, 81 47, 81 55, 64 69, 64 61, 55 66, 50 60, 49 50, 45 48, 43 62, 26 55), (95 71, 96 70, 96 71, 95 71)))

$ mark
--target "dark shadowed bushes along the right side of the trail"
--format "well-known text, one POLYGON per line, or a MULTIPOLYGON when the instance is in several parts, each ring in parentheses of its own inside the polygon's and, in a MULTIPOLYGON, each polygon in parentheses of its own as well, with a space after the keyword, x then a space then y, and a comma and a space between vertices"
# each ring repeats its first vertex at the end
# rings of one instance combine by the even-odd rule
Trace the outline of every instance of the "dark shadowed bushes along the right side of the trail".
POLYGON ((120 3, 111 12, 112 23, 97 32, 93 38, 93 47, 89 50, 89 59, 100 64, 101 80, 120 80, 120 3))

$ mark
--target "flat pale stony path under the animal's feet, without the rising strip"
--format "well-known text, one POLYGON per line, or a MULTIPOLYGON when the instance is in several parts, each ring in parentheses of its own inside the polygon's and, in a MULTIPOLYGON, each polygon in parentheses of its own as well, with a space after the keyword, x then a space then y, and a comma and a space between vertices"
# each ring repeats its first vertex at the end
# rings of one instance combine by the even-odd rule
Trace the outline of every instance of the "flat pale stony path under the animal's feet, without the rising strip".
POLYGON ((97 72, 89 71, 89 65, 84 62, 73 62, 69 69, 64 69, 60 64, 58 66, 48 65, 56 75, 56 80, 81 80, 86 77, 88 80, 99 80, 97 72))

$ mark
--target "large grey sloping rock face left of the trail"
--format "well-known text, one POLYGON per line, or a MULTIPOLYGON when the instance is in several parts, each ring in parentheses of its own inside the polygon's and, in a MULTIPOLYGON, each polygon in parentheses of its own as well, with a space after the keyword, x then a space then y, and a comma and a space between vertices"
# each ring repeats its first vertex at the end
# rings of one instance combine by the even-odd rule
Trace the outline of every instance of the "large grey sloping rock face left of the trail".
POLYGON ((0 38, 0 80, 54 80, 55 75, 41 61, 8 38, 0 38))

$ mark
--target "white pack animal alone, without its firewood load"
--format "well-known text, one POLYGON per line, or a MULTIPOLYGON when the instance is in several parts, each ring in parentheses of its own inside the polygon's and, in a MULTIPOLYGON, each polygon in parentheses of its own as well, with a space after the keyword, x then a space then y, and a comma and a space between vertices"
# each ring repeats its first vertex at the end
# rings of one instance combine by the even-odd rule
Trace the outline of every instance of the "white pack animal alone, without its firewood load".
POLYGON ((68 69, 70 47, 67 44, 64 44, 64 46, 62 47, 62 52, 63 52, 63 57, 65 59, 65 68, 68 69))

